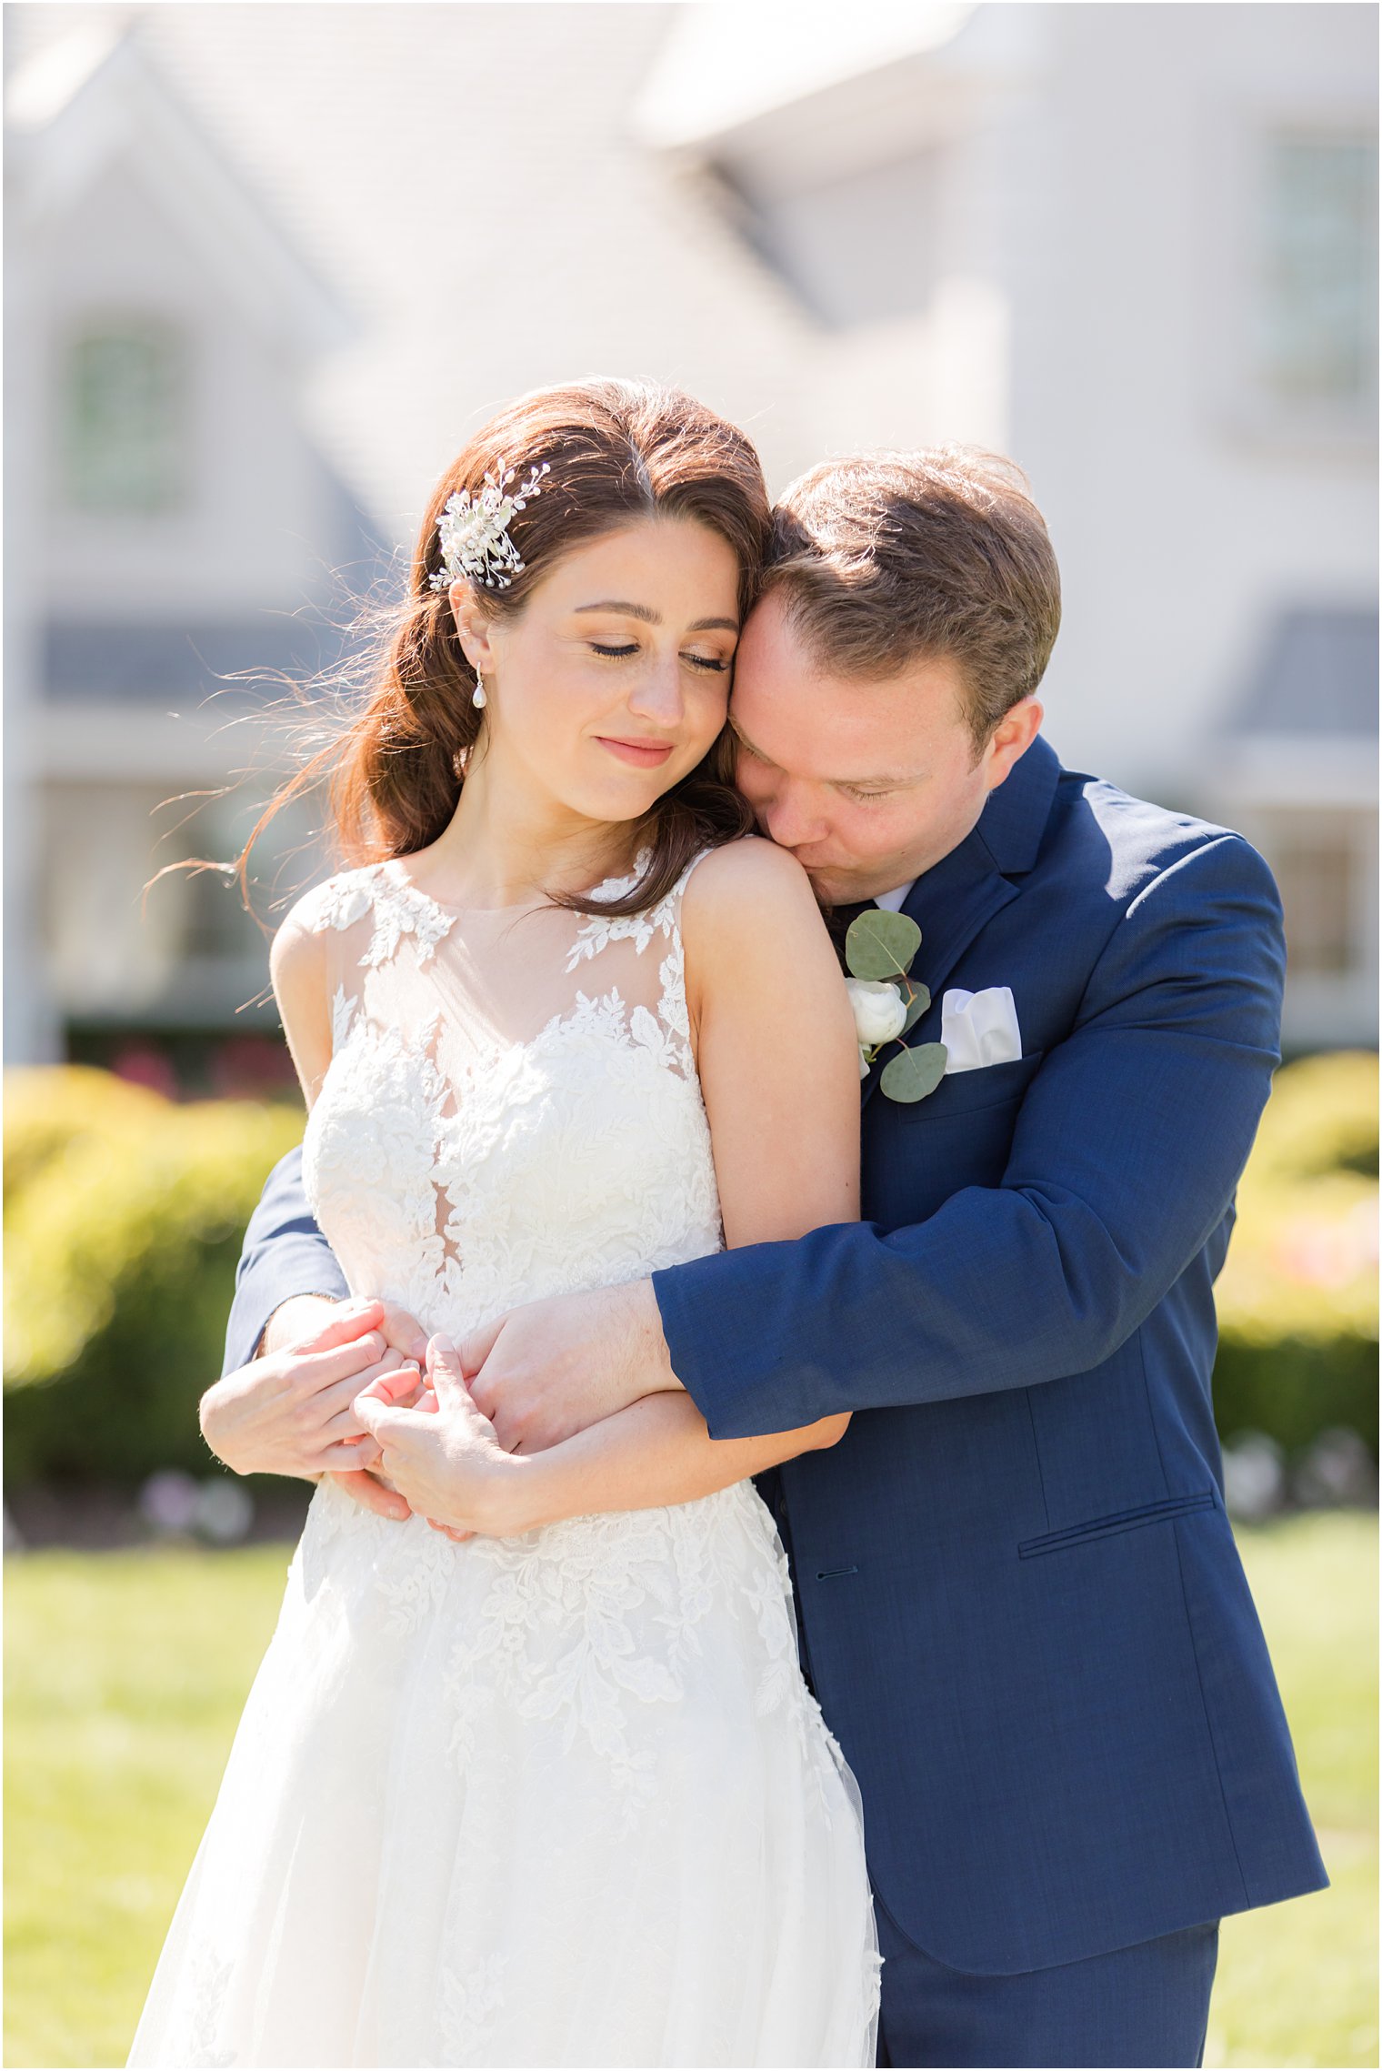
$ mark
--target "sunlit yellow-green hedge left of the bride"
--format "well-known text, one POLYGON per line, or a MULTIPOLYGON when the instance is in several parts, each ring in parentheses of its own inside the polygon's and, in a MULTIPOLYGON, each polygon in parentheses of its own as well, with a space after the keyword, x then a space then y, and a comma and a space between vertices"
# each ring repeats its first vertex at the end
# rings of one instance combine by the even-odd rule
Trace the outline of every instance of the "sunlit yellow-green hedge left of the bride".
POLYGON ((176 1106, 87 1067, 6 1073, 6 1483, 207 1472, 240 1238, 302 1112, 176 1106))

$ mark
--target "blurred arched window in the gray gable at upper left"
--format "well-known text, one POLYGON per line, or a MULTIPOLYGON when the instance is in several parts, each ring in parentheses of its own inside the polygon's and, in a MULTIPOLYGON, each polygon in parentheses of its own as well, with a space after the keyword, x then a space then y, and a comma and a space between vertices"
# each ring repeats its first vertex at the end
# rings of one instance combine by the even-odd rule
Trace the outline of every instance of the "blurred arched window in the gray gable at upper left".
POLYGON ((91 325, 68 350, 68 501, 87 512, 157 514, 186 493, 188 354, 151 319, 91 325))

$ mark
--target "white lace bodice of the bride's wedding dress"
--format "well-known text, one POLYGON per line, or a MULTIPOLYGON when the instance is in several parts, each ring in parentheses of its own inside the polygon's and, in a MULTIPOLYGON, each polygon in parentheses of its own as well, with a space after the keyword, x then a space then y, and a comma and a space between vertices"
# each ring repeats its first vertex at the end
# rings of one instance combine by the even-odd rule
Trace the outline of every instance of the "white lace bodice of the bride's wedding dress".
POLYGON ((544 909, 468 926, 395 864, 298 907, 337 949, 304 1180, 352 1292, 463 1336, 542 1294, 720 1247, 679 926, 689 874, 617 920, 544 909), (532 1031, 523 998, 554 1002, 532 1031))

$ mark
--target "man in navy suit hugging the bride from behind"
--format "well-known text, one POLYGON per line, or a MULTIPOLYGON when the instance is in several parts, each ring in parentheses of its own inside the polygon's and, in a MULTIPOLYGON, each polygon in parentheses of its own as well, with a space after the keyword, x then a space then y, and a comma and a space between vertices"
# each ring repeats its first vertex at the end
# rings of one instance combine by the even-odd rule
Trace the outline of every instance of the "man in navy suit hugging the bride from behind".
MULTIPOLYGON (((1061 768, 1034 702, 1057 623, 1001 462, 842 460, 788 491, 737 659, 739 783, 825 903, 921 926, 933 1004, 906 1040, 962 1033, 981 994, 999 1048, 954 1042, 912 1106, 879 1058, 865 1222, 461 1346, 528 1450, 658 1388, 714 1437, 854 1412, 759 1487, 863 1789, 892 2065, 1194 2065, 1219 1918, 1326 1883, 1210 1412, 1212 1280, 1276 1064, 1276 893, 1237 835, 1061 768)), ((327 1406, 327 1435, 358 1429, 377 1311, 283 1350, 343 1292, 292 1154, 246 1236, 234 1441, 217 1390, 205 1408, 240 1470, 304 1470, 327 1406)), ((383 1323, 397 1361, 416 1325, 383 1323)))

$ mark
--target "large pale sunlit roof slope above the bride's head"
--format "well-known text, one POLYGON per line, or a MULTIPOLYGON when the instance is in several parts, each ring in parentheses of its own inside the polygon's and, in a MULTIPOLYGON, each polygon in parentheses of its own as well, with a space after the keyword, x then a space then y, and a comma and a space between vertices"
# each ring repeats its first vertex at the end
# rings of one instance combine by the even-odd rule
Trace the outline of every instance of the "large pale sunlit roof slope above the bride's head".
MULTIPOLYGON (((677 12, 648 0, 141 10, 139 46, 168 95, 354 315, 350 350, 310 371, 304 414, 389 538, 412 536, 441 468, 501 402, 592 373, 687 387, 747 425, 770 478, 797 472, 813 327, 627 128, 677 12)), ((68 35, 66 14, 6 6, 17 66, 68 35)))

